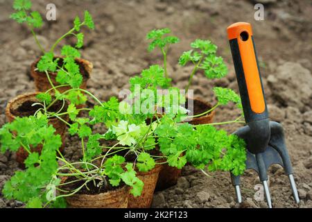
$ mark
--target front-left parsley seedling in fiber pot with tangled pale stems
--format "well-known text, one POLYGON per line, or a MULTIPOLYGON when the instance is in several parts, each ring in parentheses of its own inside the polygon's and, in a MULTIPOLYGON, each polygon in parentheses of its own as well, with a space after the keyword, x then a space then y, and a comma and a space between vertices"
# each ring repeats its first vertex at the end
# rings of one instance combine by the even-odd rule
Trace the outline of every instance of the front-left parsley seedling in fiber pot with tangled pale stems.
MULTIPOLYGON (((77 121, 83 123, 87 120, 77 121)), ((94 164, 94 160, 101 155, 101 152, 92 152, 94 147, 99 146, 99 135, 92 135, 87 126, 81 126, 78 135, 82 141, 83 158, 78 162, 69 162, 59 151, 62 144, 60 135, 55 135, 53 126, 48 125, 46 114, 37 112, 35 116, 17 118, 4 125, 0 130, 1 151, 17 151, 19 146, 23 146, 29 153, 24 162, 26 170, 16 171, 6 182, 4 196, 26 203, 26 207, 66 207, 65 199, 71 207, 78 207, 74 199, 80 198, 79 194, 90 194, 94 201, 98 198, 104 201, 100 207, 114 207, 108 204, 112 200, 96 194, 120 191, 124 202, 119 204, 127 207, 128 189, 124 185, 132 187, 130 193, 134 196, 139 196, 143 188, 143 182, 135 176, 132 164, 125 164, 124 157, 114 153, 106 153, 103 157, 105 161, 100 165, 94 164), (32 153, 31 146, 38 145, 42 146, 41 153, 32 153)), ((83 207, 81 204, 80 207, 83 207)), ((94 207, 98 205, 94 203, 94 207)))

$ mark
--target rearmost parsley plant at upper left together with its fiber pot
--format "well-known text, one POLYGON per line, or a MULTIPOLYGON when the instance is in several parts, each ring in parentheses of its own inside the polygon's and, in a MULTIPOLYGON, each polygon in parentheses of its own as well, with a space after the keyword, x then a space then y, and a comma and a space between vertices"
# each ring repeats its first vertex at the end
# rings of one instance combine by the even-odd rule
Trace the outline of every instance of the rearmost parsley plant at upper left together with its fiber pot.
MULTIPOLYGON (((86 87, 87 78, 92 70, 92 64, 87 60, 80 59, 78 49, 83 47, 84 34, 81 28, 87 26, 94 30, 94 22, 88 11, 85 11, 83 21, 77 16, 73 22, 73 28, 62 35, 51 46, 49 51, 45 51, 42 44, 37 38, 35 28, 43 26, 43 20, 40 12, 31 10, 32 3, 30 0, 15 0, 13 8, 16 10, 10 16, 19 24, 26 24, 31 30, 37 46, 42 51, 43 56, 40 60, 32 65, 32 76, 35 78, 35 85, 38 90, 45 92, 53 88, 53 93, 58 95, 69 88, 78 89, 86 87), (55 56, 55 49, 66 37, 75 36, 77 43, 75 46, 64 45, 61 49, 61 56, 55 56), (44 77, 46 75, 46 77, 44 77), (45 84, 47 83, 47 84, 45 84)), ((67 95, 67 99, 76 105, 85 103, 86 98, 80 91, 71 91, 67 95)))

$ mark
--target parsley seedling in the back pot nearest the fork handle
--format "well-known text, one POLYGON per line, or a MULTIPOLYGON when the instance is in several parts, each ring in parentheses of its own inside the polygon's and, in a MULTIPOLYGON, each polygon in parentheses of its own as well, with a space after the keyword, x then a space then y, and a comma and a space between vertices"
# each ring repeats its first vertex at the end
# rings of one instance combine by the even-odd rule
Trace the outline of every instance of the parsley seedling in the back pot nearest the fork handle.
MULTIPOLYGON (((147 39, 152 40, 148 46, 148 51, 153 51, 156 47, 158 47, 164 55, 163 59, 166 78, 168 78, 168 74, 166 74, 166 59, 168 49, 171 44, 180 42, 179 38, 175 36, 167 36, 168 33, 171 33, 170 29, 163 28, 150 31, 150 33, 147 35, 147 39)), ((209 79, 224 78, 227 76, 227 66, 224 63, 223 58, 216 55, 217 46, 215 44, 212 44, 209 40, 197 39, 191 43, 191 48, 191 50, 182 53, 182 56, 180 56, 179 59, 179 65, 181 66, 185 66, 189 63, 193 64, 194 66, 189 76, 188 85, 185 87, 185 94, 187 94, 189 87, 191 87, 193 77, 200 70, 202 70, 205 76, 209 79)), ((170 87, 170 85, 168 85, 168 87, 170 87)), ((232 97, 234 102, 238 103, 239 108, 241 108, 241 99, 232 89, 214 87, 214 92, 216 96, 223 94, 232 97)), ((214 107, 198 99, 195 99, 193 102, 195 103, 195 109, 199 108, 199 106, 205 106, 207 108, 205 112, 200 112, 189 117, 189 119, 195 119, 194 121, 191 121, 193 124, 211 123, 211 117, 209 117, 209 114, 214 113, 214 110, 216 110, 219 105, 223 105, 222 101, 219 101, 219 103, 214 105, 214 107), (203 118, 205 116, 207 116, 207 118, 203 118)), ((200 110, 202 110, 202 108, 200 108, 200 110)))

